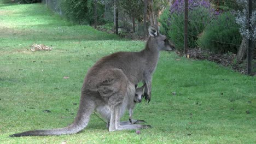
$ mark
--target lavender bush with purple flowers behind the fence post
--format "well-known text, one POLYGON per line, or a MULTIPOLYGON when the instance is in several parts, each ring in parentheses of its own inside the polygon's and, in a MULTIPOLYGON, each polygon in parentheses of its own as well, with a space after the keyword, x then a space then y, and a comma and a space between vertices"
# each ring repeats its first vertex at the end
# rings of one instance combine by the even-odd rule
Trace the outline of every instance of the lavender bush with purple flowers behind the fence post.
MULTIPOLYGON (((190 48, 196 47, 195 40, 197 35, 202 33, 206 24, 210 22, 214 15, 214 10, 207 0, 190 0, 189 7, 189 27, 188 27, 188 46, 190 48)), ((171 5, 170 11, 165 10, 160 16, 161 32, 166 34, 177 49, 184 47, 184 0, 177 0, 171 5)))

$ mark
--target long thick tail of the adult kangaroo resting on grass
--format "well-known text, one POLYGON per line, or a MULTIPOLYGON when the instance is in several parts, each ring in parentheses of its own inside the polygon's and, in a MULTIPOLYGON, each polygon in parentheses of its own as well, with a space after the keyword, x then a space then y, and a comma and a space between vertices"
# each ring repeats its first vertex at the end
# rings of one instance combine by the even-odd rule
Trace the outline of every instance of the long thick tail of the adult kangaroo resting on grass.
POLYGON ((95 105, 94 101, 84 100, 82 96, 80 99, 80 105, 77 113, 77 117, 74 122, 65 127, 59 129, 49 129, 49 130, 30 130, 22 133, 17 133, 10 135, 9 137, 19 137, 19 136, 46 136, 46 135, 63 135, 63 134, 75 134, 83 130, 89 123, 90 115, 94 112, 95 105))

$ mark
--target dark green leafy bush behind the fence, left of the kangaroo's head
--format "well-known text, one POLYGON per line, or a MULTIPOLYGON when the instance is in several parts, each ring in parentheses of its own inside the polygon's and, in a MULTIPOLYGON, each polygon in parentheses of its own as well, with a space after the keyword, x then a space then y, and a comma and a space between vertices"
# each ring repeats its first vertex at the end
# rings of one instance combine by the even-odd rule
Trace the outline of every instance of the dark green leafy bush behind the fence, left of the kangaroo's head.
MULTIPOLYGON (((82 25, 94 23, 94 1, 93 0, 64 0, 61 8, 68 20, 82 25)), ((104 5, 97 3, 97 22, 104 23, 104 5)))

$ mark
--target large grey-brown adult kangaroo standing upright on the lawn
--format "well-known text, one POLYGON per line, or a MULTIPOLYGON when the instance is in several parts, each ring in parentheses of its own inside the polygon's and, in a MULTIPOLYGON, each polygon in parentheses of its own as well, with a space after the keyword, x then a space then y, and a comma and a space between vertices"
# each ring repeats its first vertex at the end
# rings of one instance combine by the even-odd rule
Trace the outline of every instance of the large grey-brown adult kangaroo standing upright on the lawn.
POLYGON ((90 115, 102 106, 109 106, 109 131, 149 128, 149 125, 121 125, 120 111, 127 105, 126 99, 134 97, 135 85, 146 83, 145 99, 150 101, 152 74, 156 69, 161 50, 172 51, 172 45, 165 35, 159 33, 158 26, 148 28, 149 39, 146 47, 139 52, 116 52, 98 60, 85 76, 77 116, 71 125, 50 130, 31 130, 14 136, 45 136, 74 134, 89 123, 90 115))

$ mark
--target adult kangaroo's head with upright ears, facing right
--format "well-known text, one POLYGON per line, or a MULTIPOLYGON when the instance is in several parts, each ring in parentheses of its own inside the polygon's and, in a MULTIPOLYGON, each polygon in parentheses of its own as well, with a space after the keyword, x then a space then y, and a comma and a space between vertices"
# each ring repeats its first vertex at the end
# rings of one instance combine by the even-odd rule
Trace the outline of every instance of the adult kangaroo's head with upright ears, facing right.
POLYGON ((158 47, 159 51, 173 51, 175 50, 174 45, 171 43, 170 40, 166 38, 165 35, 162 35, 159 33, 159 27, 149 26, 148 33, 150 35, 150 40, 154 41, 156 43, 156 46, 158 47))

